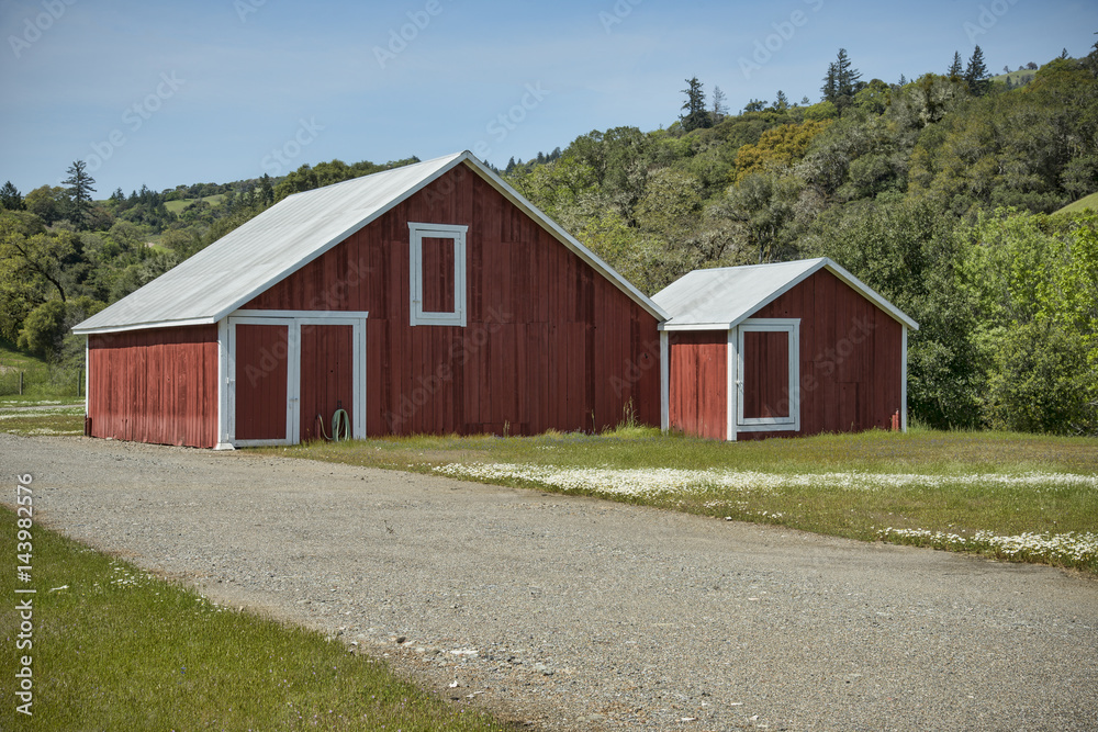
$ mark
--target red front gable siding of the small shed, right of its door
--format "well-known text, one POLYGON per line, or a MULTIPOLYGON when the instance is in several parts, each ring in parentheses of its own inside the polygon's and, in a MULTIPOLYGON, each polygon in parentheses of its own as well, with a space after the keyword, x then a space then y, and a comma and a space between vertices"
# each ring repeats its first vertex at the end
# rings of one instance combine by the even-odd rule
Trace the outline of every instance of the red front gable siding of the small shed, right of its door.
POLYGON ((903 326, 828 270, 752 314, 800 318, 800 431, 739 439, 889 429, 901 408, 903 326))

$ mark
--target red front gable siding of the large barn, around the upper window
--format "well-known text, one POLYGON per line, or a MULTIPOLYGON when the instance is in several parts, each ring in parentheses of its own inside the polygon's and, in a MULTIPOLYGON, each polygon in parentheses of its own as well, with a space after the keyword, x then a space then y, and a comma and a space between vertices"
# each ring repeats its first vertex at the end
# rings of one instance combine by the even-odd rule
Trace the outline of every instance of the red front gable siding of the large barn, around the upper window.
POLYGON ((370 313, 370 436, 660 423, 656 318, 464 166, 244 307, 370 313), (469 227, 467 327, 408 325, 410 221, 469 227))

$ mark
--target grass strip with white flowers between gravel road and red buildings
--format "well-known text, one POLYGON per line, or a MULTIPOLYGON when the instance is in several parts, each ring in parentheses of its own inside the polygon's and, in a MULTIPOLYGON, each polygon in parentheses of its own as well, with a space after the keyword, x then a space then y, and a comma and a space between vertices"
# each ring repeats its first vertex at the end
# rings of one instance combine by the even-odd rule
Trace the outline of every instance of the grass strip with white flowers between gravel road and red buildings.
POLYGON ((1093 438, 914 429, 722 443, 632 429, 604 436, 314 442, 261 451, 418 472, 445 469, 485 483, 1098 573, 1098 545, 1078 554, 999 541, 1032 533, 1067 540, 1083 534, 1085 548, 1098 541, 1093 537, 1098 489, 1088 483, 1098 474, 1098 439, 1093 438), (659 477, 657 471, 666 468, 704 473, 659 477), (565 469, 589 473, 561 477, 565 469), (634 472, 597 472, 607 470, 634 472), (725 472, 740 475, 736 485, 715 480, 725 472), (1017 482, 1033 473, 1038 477, 1017 482), (1062 484, 1055 474, 1084 480, 1062 484), (1016 482, 995 477, 1004 475, 1016 482))

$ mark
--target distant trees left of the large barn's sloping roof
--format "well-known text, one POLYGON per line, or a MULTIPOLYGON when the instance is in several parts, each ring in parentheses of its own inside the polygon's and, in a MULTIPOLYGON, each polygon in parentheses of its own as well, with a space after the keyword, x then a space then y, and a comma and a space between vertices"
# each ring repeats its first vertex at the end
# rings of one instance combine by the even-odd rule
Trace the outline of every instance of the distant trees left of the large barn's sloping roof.
POLYGON ((71 327, 281 199, 379 170, 408 165, 340 160, 307 165, 279 179, 197 183, 128 195, 115 190, 96 201, 83 161, 63 185, 25 196, 0 188, 0 339, 60 369, 82 363, 83 342, 71 327), (201 196, 201 198, 199 198, 201 196), (211 203, 206 199, 215 198, 211 203), (168 203, 190 200, 178 212, 168 203))

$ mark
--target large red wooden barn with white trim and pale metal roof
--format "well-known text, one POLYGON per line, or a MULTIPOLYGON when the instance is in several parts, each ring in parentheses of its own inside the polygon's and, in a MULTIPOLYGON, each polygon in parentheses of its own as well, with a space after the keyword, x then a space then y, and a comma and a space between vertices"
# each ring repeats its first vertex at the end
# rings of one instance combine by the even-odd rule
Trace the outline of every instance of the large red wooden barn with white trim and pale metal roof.
POLYGON ((87 431, 231 448, 660 419, 666 314, 470 153, 291 195, 74 328, 87 431))

